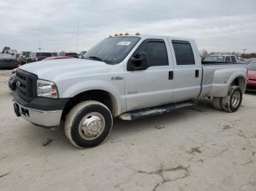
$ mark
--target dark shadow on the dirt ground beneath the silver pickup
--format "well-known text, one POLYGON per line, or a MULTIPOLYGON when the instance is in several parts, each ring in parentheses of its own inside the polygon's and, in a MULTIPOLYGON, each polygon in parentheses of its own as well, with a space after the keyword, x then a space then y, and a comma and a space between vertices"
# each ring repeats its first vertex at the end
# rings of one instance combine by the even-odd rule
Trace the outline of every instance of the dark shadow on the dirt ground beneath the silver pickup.
MULTIPOLYGON (((161 128, 172 128, 172 125, 177 125, 179 122, 184 122, 184 120, 189 120, 192 117, 202 117, 202 114, 211 114, 211 112, 221 112, 214 109, 211 106, 210 99, 200 99, 198 105, 195 107, 177 109, 173 112, 167 114, 160 114, 151 117, 145 117, 138 120, 124 121, 118 118, 113 120, 113 129, 110 136, 105 141, 105 143, 111 143, 113 141, 122 140, 129 138, 138 132, 143 133, 143 131, 148 130, 159 130, 161 128)), ((189 124, 187 124, 189 126, 189 124)), ((43 128, 31 127, 29 130, 29 135, 34 140, 41 141, 40 147, 59 147, 60 149, 76 149, 67 140, 64 133, 64 123, 62 122, 59 129, 48 130, 43 128), (51 140, 46 146, 42 146, 45 141, 51 140)), ((38 143, 38 141, 37 141, 38 143)), ((104 145, 103 143, 102 145, 104 145)))

